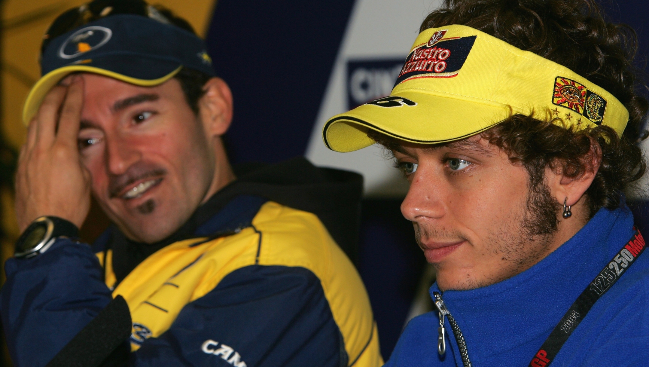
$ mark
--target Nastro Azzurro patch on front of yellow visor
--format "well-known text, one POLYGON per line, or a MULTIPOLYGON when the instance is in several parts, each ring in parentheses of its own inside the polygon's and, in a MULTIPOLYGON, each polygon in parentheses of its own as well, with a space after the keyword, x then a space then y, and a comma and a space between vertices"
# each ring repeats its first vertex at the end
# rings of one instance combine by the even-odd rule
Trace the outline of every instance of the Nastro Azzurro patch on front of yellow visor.
POLYGON ((415 77, 452 78, 458 75, 476 42, 476 36, 441 38, 444 34, 446 31, 435 32, 428 43, 408 55, 395 86, 415 77))

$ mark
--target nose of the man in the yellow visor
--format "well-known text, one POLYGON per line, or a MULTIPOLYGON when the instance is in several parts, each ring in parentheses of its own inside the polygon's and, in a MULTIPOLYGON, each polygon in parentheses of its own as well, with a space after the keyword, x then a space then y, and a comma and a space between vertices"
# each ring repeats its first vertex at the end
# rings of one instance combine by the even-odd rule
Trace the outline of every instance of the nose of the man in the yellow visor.
POLYGON ((401 203, 401 214, 410 221, 420 221, 430 218, 441 218, 445 214, 442 201, 441 184, 435 180, 432 173, 417 170, 413 175, 410 189, 401 203))

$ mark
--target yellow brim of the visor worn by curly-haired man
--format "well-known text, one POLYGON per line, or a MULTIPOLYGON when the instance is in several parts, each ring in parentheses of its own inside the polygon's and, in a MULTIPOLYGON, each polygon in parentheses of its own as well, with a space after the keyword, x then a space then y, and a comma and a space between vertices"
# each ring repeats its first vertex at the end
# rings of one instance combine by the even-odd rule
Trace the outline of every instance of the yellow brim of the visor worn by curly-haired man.
POLYGON ((411 143, 435 144, 450 142, 478 134, 509 117, 511 109, 497 103, 452 99, 415 91, 402 91, 399 97, 417 101, 417 105, 401 103, 400 107, 361 105, 329 120, 324 127, 324 142, 329 149, 350 152, 374 144, 367 136, 370 130, 411 143), (440 106, 439 108, 430 108, 440 106), (408 123, 395 123, 408 121, 408 123))

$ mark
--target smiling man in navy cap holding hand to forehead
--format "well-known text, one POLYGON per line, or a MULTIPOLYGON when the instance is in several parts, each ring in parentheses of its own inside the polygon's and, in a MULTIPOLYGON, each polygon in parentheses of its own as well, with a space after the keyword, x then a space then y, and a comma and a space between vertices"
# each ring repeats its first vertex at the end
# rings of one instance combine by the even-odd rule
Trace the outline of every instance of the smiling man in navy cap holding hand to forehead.
POLYGON ((96 0, 55 20, 23 111, 21 237, 0 312, 17 366, 379 366, 345 253, 361 178, 231 168, 232 95, 168 10, 96 0), (90 194, 114 223, 92 246, 90 194))

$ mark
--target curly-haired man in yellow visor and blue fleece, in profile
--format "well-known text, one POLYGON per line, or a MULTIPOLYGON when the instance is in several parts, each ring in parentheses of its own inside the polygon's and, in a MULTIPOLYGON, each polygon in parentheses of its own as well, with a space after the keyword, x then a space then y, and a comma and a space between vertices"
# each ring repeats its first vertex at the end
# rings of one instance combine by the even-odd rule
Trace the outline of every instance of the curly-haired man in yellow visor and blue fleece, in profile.
POLYGON ((591 0, 447 0, 389 97, 324 142, 389 149, 437 271, 386 366, 645 366, 649 258, 635 34, 591 0))

